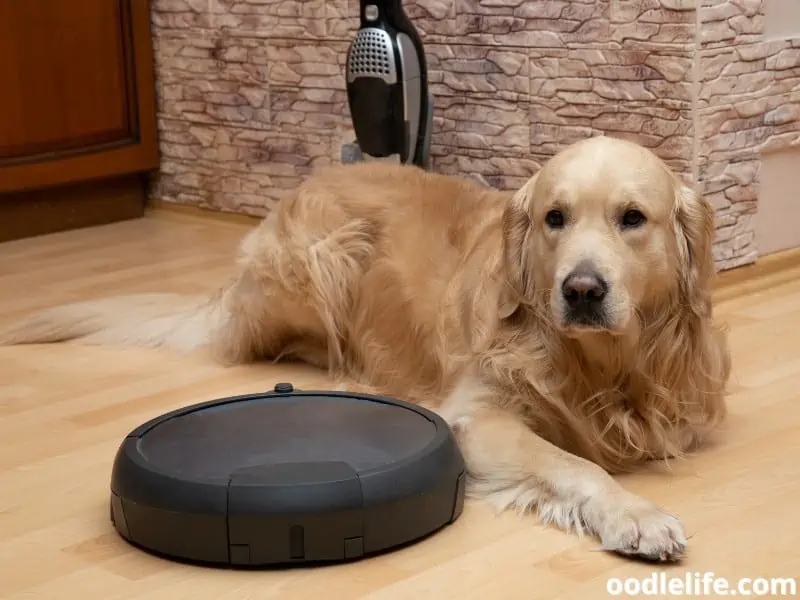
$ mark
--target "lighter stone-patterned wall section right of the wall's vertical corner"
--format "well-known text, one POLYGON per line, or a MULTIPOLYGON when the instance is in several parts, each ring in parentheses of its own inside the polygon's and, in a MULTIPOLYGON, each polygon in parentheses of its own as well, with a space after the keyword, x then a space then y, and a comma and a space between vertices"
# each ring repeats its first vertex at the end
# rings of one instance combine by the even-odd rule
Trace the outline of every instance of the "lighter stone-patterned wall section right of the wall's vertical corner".
POLYGON ((800 143, 800 38, 765 39, 764 0, 703 0, 699 17, 697 163, 725 268, 758 256, 761 152, 800 143))

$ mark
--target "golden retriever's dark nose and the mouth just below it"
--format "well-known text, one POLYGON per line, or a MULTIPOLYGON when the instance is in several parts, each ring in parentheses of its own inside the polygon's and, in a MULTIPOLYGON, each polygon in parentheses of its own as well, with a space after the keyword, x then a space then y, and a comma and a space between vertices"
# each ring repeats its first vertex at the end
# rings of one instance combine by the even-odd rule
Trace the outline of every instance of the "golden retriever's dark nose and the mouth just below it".
POLYGON ((579 263, 561 284, 567 325, 603 328, 608 324, 608 284, 588 261, 579 263))

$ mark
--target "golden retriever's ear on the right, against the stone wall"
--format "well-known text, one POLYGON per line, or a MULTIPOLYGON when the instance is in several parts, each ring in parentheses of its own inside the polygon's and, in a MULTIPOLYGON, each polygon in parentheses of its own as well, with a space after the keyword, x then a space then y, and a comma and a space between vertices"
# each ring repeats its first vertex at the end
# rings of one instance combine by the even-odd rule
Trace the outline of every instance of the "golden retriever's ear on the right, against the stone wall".
POLYGON ((680 291, 689 308, 706 316, 710 308, 709 285, 714 275, 711 247, 714 207, 676 177, 673 226, 677 238, 680 291))

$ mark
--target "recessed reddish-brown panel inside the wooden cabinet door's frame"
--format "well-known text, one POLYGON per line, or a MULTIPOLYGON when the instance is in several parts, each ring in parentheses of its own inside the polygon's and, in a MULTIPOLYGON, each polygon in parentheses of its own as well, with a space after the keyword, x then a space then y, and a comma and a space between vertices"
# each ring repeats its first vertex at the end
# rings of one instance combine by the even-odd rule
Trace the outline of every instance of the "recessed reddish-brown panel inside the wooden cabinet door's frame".
POLYGON ((117 0, 0 0, 0 159, 131 138, 123 14, 117 0))

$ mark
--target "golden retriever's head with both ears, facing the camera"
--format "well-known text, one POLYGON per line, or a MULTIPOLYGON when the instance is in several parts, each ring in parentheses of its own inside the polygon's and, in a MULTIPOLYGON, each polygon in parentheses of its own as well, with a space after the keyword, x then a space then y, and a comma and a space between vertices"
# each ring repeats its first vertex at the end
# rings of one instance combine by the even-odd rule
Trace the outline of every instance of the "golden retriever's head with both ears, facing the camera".
POLYGON ((708 310, 713 208, 653 153, 610 137, 553 157, 504 216, 509 284, 575 337, 659 304, 708 310))

